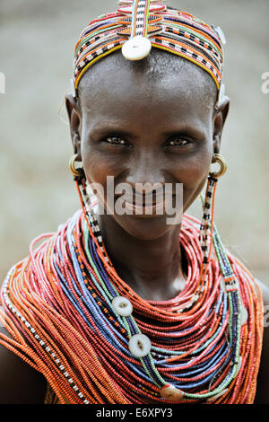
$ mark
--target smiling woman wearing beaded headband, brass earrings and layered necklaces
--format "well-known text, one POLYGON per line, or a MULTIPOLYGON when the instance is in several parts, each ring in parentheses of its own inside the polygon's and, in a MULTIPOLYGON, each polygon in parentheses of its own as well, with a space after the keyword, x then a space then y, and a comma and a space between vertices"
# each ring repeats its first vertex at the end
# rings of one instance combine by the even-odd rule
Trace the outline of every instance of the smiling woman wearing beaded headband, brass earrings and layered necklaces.
POLYGON ((2 402, 266 402, 268 291, 213 224, 224 42, 144 0, 82 32, 66 95, 82 210, 4 281, 2 402), (199 224, 178 187, 186 213, 205 184, 199 224))

